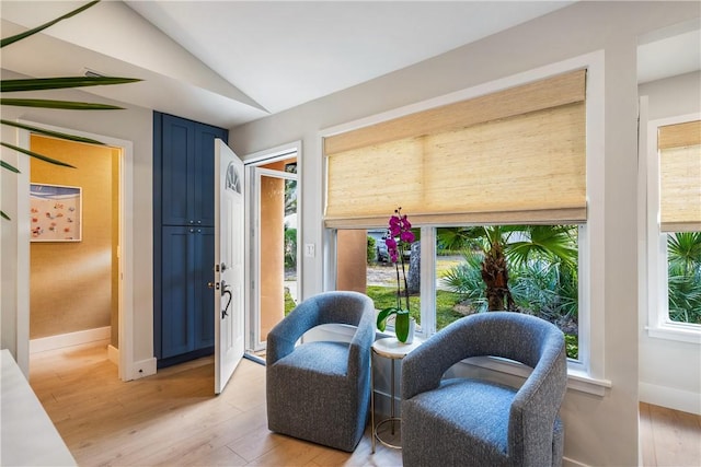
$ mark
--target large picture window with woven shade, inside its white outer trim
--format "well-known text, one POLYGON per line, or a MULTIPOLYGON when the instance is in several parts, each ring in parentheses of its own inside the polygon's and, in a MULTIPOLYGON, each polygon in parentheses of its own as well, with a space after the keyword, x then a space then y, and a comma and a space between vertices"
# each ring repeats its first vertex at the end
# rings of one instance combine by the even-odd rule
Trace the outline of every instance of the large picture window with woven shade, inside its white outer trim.
POLYGON ((395 268, 381 249, 401 207, 415 227, 406 264, 420 335, 509 310, 559 326, 578 361, 586 75, 570 71, 326 137, 324 224, 336 232, 336 288, 367 293, 378 310, 395 303, 395 268))

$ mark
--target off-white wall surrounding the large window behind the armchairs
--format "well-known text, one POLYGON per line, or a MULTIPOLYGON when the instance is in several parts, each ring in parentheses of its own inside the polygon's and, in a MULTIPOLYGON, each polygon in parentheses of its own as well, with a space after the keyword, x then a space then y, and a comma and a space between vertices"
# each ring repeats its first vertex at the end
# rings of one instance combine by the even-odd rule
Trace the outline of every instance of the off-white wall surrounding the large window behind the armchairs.
MULTIPOLYGON (((568 390, 562 415, 565 456, 586 465, 636 465, 637 446, 637 36, 699 15, 690 2, 578 2, 437 58, 283 114, 232 129, 251 154, 302 140, 302 242, 321 252, 320 130, 596 50, 605 51, 605 260, 591 280, 604 289, 604 397, 568 390)), ((303 296, 323 288, 321 255, 303 258, 303 296)))

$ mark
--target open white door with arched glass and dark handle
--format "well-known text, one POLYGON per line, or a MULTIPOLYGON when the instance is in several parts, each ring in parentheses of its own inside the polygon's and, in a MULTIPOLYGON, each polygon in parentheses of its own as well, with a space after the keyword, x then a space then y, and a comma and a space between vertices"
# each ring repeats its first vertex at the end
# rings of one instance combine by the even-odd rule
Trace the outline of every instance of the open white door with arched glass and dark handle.
POLYGON ((244 351, 243 162, 215 140, 215 394, 244 351))

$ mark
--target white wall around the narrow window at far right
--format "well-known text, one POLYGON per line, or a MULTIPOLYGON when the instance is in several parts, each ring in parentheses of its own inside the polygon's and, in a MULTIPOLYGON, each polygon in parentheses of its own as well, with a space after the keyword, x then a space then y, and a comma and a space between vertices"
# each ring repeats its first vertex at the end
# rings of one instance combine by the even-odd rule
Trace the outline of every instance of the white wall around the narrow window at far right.
MULTIPOLYGON (((701 73, 687 73, 642 84, 640 95, 647 96, 648 120, 698 114, 701 112, 701 73)), ((647 120, 641 119, 641 129, 646 128, 647 120)), ((645 156, 641 154, 643 161, 645 156)), ((640 235, 644 247, 645 229, 644 225, 642 227, 640 235)), ((641 271, 645 271, 644 264, 641 264, 641 271)), ((645 329, 648 305, 645 299, 646 293, 641 293, 640 399, 700 413, 701 349, 698 343, 651 337, 645 329)))

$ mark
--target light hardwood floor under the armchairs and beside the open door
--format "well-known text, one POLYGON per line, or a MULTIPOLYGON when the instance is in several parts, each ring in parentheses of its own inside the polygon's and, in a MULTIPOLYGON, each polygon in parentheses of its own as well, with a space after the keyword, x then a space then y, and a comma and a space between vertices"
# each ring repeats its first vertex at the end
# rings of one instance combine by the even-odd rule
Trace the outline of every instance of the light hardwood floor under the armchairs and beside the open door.
MULTIPOLYGON (((401 466, 371 454, 369 429, 353 454, 271 433, 265 369, 243 360, 220 396, 199 359, 123 383, 106 343, 32 355, 30 383, 80 466, 401 466)), ((701 418, 641 405, 645 466, 701 465, 701 418)))

